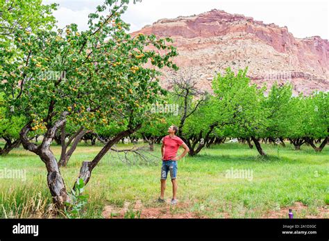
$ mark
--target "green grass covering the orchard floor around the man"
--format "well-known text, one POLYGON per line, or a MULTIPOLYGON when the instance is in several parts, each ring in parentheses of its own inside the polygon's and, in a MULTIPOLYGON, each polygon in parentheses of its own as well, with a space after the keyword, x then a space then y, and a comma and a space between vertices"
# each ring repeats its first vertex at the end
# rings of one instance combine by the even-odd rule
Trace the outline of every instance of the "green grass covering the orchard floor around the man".
MULTIPOLYGON (((124 145, 119 145, 119 147, 124 145)), ((178 200, 188 205, 171 208, 173 213, 195 213, 203 217, 266 217, 295 202, 307 206, 295 217, 328 218, 329 148, 316 153, 304 145, 300 151, 291 145, 263 144, 267 159, 248 145, 225 143, 204 149, 197 157, 178 162, 178 200), (226 170, 252 170, 253 179, 230 179, 226 170), (323 211, 324 210, 324 211, 323 211), (323 213, 324 212, 324 213, 323 213)), ((81 162, 91 160, 101 146, 81 144, 61 168, 67 188, 78 177, 81 162)), ((56 157, 60 147, 53 145, 56 157)), ((103 217, 104 206, 124 206, 125 202, 142 202, 144 208, 157 207, 160 195, 160 146, 155 145, 156 162, 128 165, 117 154, 106 154, 92 172, 85 192, 90 195, 83 217, 103 217)), ((35 154, 18 148, 0 157, 1 169, 24 169, 27 179, 0 179, 0 217, 50 217, 51 195, 47 188, 47 170, 35 154)), ((168 179, 165 198, 171 198, 168 179)))

